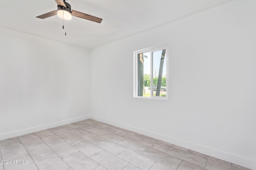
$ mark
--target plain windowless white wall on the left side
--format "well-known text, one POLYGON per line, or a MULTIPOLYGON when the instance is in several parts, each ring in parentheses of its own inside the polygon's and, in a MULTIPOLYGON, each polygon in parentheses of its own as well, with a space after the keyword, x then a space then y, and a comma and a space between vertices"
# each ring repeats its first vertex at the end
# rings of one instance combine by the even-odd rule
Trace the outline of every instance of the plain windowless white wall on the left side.
POLYGON ((0 28, 0 140, 90 115, 90 51, 0 28))

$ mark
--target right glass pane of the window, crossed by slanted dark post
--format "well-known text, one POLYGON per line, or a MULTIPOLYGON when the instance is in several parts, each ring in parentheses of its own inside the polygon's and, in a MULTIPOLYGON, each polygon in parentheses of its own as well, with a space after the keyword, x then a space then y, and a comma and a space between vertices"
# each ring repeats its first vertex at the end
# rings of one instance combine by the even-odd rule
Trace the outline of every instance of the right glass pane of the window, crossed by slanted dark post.
POLYGON ((166 96, 165 49, 153 52, 153 96, 166 96))

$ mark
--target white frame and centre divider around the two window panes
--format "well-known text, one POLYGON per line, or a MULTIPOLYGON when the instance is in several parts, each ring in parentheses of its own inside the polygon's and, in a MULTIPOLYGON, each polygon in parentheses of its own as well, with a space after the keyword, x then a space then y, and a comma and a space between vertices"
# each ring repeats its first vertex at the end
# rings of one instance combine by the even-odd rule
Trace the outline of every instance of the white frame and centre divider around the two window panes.
POLYGON ((168 100, 168 91, 169 91, 169 86, 168 86, 168 76, 169 76, 169 68, 168 68, 168 58, 169 58, 169 50, 168 50, 168 45, 163 45, 163 46, 159 46, 159 47, 151 47, 151 48, 146 48, 146 49, 142 49, 142 50, 137 50, 134 51, 134 57, 133 57, 133 76, 134 76, 134 87, 133 87, 133 97, 134 98, 144 98, 144 99, 159 99, 159 100, 168 100), (166 96, 162 97, 162 96, 153 96, 153 76, 151 76, 153 74, 153 57, 152 57, 152 53, 154 51, 160 51, 166 49, 165 52, 165 59, 166 59, 166 96), (140 53, 146 53, 150 51, 150 97, 143 97, 143 96, 138 96, 138 60, 137 60, 137 56, 140 53))

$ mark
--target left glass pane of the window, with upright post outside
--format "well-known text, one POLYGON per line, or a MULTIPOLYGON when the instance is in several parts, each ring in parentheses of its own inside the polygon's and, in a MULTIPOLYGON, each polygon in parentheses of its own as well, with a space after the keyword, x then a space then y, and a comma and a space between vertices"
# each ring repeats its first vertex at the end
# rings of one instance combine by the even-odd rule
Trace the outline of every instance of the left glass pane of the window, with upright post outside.
POLYGON ((140 53, 138 60, 138 96, 150 97, 150 52, 140 53))

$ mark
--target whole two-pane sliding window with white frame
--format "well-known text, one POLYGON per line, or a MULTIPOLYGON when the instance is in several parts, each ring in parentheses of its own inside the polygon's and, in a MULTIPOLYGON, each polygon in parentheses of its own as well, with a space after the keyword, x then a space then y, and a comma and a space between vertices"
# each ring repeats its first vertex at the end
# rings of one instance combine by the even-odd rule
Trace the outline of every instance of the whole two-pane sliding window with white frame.
POLYGON ((168 46, 134 51, 134 97, 168 99, 168 46))

